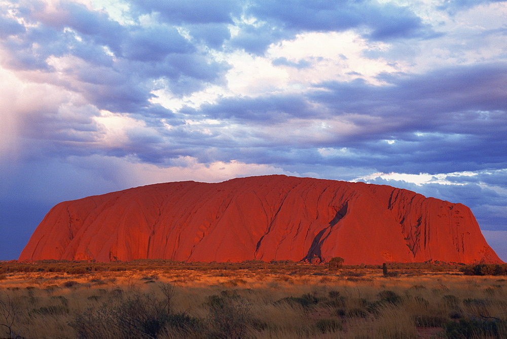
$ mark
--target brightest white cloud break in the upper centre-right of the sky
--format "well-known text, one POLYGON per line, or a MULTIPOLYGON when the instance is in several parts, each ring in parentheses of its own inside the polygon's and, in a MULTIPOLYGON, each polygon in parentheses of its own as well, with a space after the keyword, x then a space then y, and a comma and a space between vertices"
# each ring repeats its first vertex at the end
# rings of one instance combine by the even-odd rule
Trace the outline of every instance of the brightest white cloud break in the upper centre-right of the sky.
POLYGON ((204 103, 229 96, 259 96, 268 93, 300 93, 323 81, 350 81, 357 78, 380 85, 376 79, 380 73, 402 71, 381 58, 368 58, 367 51, 384 51, 385 43, 368 42, 352 30, 345 32, 308 32, 293 40, 272 44, 266 56, 256 56, 242 50, 211 51, 216 61, 227 62, 231 69, 226 74, 227 83, 209 85, 206 89, 182 98, 172 96, 165 89, 155 90, 160 103, 171 110, 184 105, 197 108, 204 103), (289 62, 303 61, 305 67, 273 65, 273 61, 285 58, 289 62))

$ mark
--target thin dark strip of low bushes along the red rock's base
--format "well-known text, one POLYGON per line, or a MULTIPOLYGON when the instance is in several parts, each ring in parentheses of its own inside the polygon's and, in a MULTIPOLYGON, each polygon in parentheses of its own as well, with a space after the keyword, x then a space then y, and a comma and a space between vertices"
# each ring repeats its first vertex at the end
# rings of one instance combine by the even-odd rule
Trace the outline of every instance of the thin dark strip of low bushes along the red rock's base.
MULTIPOLYGON (((481 264, 484 267, 485 264, 481 264)), ((477 266, 477 265, 476 265, 477 266)), ((464 265, 462 263, 445 263, 445 262, 412 262, 412 263, 387 263, 390 270, 401 270, 400 273, 410 273, 410 270, 425 270, 430 272, 456 272, 458 268, 462 271, 465 267, 469 272, 475 272, 468 267, 476 267, 472 265, 464 265), (403 272, 403 271, 406 272, 403 272)), ((487 265, 488 267, 491 265, 487 265)), ((495 266, 495 265, 492 265, 495 266)), ((498 266, 498 265, 496 265, 498 266)), ((495 267, 496 267, 495 266, 495 267)), ((504 265, 505 266, 505 265, 504 265)), ((503 267, 503 266, 502 266, 503 267)), ((60 272, 67 274, 86 274, 90 272, 118 272, 118 271, 144 271, 144 270, 199 270, 206 271, 212 269, 220 270, 268 270, 277 273, 280 270, 297 270, 298 272, 321 272, 328 269, 328 264, 309 264, 305 262, 295 262, 292 260, 272 260, 265 262, 262 260, 245 260, 243 262, 181 262, 166 259, 137 259, 132 261, 112 261, 97 262, 94 260, 70 261, 70 260, 38 260, 32 262, 18 262, 16 260, 0 262, 1 273, 13 272, 60 272)), ((360 265, 343 265, 341 269, 382 269, 382 265, 360 264, 360 265)), ((496 269, 496 268, 495 268, 496 269)), ((485 268, 479 269, 478 272, 489 272, 485 268)), ((493 269, 492 272, 496 272, 493 269)), ((505 274, 505 269, 503 269, 505 274)), ((472 273, 475 274, 475 273, 472 273)))

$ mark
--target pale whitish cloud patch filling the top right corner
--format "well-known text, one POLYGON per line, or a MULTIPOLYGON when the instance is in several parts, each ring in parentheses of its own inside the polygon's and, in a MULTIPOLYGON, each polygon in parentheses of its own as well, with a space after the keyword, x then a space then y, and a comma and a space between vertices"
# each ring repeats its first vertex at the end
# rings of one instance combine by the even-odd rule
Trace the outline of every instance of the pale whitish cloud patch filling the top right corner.
POLYGON ((496 60, 504 55, 507 36, 500 27, 507 22, 507 3, 485 3, 453 16, 437 11, 435 5, 440 4, 423 5, 417 8, 427 13, 427 21, 445 34, 438 39, 415 41, 411 45, 403 43, 393 48, 391 59, 403 64, 407 71, 421 73, 445 65, 496 60))

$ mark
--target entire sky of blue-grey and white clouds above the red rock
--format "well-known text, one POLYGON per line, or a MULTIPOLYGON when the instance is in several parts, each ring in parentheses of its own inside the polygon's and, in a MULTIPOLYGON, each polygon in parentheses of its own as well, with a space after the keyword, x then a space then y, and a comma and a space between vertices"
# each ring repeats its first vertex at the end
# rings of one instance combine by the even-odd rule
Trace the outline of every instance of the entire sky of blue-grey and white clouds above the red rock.
POLYGON ((0 259, 63 200, 286 174, 461 202, 507 260, 507 2, 0 0, 0 259))

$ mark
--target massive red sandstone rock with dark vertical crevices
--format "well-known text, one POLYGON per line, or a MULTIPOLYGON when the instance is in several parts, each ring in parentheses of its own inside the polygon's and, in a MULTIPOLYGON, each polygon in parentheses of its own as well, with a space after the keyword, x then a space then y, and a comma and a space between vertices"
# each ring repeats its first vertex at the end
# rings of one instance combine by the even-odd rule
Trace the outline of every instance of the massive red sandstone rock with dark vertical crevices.
POLYGON ((501 262, 461 204, 385 185, 263 176, 131 188, 56 205, 25 259, 345 264, 501 262))

